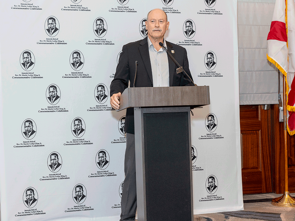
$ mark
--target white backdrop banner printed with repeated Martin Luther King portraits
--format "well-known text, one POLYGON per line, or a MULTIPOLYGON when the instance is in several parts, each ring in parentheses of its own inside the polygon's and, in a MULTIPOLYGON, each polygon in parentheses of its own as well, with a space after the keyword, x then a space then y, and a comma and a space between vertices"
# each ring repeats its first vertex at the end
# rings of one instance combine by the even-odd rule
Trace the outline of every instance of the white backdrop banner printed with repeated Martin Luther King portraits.
POLYGON ((119 220, 125 113, 109 85, 154 8, 210 86, 191 118, 194 214, 243 209, 237 0, 1 0, 1 221, 119 220))

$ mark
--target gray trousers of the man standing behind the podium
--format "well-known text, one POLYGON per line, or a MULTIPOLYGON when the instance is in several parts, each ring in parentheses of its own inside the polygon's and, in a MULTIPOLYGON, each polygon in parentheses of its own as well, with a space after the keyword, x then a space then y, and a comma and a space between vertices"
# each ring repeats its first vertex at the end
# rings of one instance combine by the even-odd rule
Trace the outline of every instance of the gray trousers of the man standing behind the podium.
POLYGON ((126 133, 126 151, 124 161, 125 179, 121 199, 120 221, 135 220, 136 203, 136 173, 135 173, 135 136, 126 133))

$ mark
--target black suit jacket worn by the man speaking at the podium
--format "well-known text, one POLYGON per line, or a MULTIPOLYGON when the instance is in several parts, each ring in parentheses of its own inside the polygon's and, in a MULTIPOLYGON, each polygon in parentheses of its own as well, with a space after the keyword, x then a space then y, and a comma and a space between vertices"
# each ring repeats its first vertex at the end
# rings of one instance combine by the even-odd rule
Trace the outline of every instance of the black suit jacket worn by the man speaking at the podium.
MULTIPOLYGON (((167 42, 167 50, 183 67, 187 74, 191 77, 189 70, 189 60, 187 58, 186 49, 179 45, 167 42)), ((168 56, 168 55, 167 55, 168 56)), ((135 61, 137 61, 137 75, 135 87, 153 87, 152 66, 150 63, 150 54, 148 50, 148 37, 137 42, 126 44, 122 48, 122 54, 119 58, 114 80, 110 86, 110 96, 115 93, 123 93, 128 87, 128 82, 132 82, 130 87, 133 87, 135 77, 135 61)), ((169 86, 192 86, 188 77, 181 72, 176 74, 178 66, 168 56, 169 65, 169 86)), ((191 77, 192 78, 192 77, 191 77)), ((127 108, 125 120, 125 132, 134 134, 134 110, 127 108)))

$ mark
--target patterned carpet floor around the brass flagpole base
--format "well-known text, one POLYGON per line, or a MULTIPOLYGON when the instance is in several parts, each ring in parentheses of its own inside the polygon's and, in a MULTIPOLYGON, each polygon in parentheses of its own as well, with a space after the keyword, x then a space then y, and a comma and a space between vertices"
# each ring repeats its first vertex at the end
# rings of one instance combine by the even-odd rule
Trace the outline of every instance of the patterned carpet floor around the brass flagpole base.
MULTIPOLYGON (((295 208, 276 207, 271 200, 283 194, 244 195, 244 210, 194 215, 194 221, 295 221, 295 208)), ((294 197, 294 194, 290 194, 294 197)))

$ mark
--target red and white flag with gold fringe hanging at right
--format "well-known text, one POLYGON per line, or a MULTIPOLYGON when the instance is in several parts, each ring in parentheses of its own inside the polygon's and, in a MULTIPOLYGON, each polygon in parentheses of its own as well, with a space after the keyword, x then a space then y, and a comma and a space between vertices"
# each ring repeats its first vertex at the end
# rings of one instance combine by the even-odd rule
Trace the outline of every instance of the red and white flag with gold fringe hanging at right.
POLYGON ((276 0, 267 36, 267 60, 286 76, 287 130, 295 134, 295 6, 294 0, 276 0))

